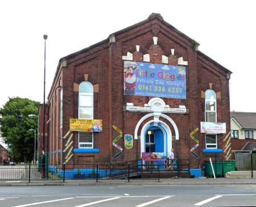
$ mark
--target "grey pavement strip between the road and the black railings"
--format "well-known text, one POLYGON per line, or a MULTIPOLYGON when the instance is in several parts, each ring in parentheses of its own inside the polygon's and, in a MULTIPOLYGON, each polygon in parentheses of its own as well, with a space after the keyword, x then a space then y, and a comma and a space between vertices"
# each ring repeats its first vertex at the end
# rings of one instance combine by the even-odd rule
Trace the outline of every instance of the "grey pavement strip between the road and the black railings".
POLYGON ((14 186, 90 186, 90 185, 256 185, 256 179, 195 178, 195 179, 130 179, 128 180, 0 180, 0 187, 14 186))

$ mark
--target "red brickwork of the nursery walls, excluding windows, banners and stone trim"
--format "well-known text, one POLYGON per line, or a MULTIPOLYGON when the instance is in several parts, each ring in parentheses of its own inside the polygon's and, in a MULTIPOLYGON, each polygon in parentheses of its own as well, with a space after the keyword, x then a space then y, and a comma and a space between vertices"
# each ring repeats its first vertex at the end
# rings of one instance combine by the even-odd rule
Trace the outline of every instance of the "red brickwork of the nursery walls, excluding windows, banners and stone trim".
MULTIPOLYGON (((61 139, 61 133, 65 135, 69 131, 69 118, 78 118, 79 92, 77 85, 85 81, 84 74, 88 74, 88 81, 92 85, 99 85, 99 91, 94 93, 94 119, 103 120, 103 132, 94 133, 94 148, 99 153, 73 153, 68 164, 92 163, 127 163, 140 159, 140 140, 134 140, 134 146, 130 150, 123 147, 123 138, 118 145, 123 147, 123 155, 116 160, 112 156, 117 151, 112 146, 112 140, 118 134, 113 130, 115 125, 123 131, 123 134, 133 134, 134 129, 146 113, 134 113, 123 110, 126 103, 135 106, 143 106, 153 97, 124 96, 123 95, 123 60, 127 52, 133 53, 133 61, 143 61, 143 55, 150 55, 150 63, 162 64, 162 55, 168 57, 170 65, 177 65, 178 57, 188 61, 186 67, 187 98, 185 100, 162 98, 170 107, 184 105, 188 114, 167 114, 179 129, 179 140, 172 139, 175 154, 181 159, 188 160, 193 167, 198 167, 205 159, 205 134, 198 132, 195 136, 200 140, 200 147, 196 153, 200 159, 193 158, 190 148, 195 145, 189 138, 189 133, 196 127, 200 128, 200 122, 205 120, 204 96, 205 90, 210 87, 217 93, 217 121, 226 123, 226 131, 230 131, 229 109, 229 75, 230 71, 214 60, 197 50, 197 43, 176 28, 165 22, 160 15, 151 15, 148 19, 115 32, 108 39, 82 49, 60 60, 52 88, 48 96, 49 101, 49 151, 60 150, 60 154, 52 154, 51 164, 63 163, 67 139, 61 139), (158 37, 158 43, 154 44, 152 38, 158 37), (140 45, 139 51, 135 45, 140 45), (170 49, 175 49, 172 55, 170 49), (60 90, 63 90, 63 129, 59 127, 59 102, 60 90)), ((151 118, 152 119, 152 118, 151 118)), ((148 118, 143 123, 149 121, 148 118)), ((174 128, 160 118, 175 135, 174 128)), ((142 125, 143 125, 142 123, 142 125)), ((138 134, 141 132, 139 129, 138 134)), ((72 132, 73 148, 79 148, 78 133, 72 132)), ((222 148, 222 139, 225 134, 218 135, 218 148, 222 148)))

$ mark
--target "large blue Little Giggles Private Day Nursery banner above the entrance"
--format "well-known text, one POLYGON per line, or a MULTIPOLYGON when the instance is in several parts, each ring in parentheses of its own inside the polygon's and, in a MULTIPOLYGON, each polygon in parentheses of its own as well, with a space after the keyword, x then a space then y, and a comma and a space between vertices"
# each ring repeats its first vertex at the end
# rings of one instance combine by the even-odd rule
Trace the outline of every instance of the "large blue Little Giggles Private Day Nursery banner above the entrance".
POLYGON ((186 98, 185 67, 125 61, 124 94, 186 98))

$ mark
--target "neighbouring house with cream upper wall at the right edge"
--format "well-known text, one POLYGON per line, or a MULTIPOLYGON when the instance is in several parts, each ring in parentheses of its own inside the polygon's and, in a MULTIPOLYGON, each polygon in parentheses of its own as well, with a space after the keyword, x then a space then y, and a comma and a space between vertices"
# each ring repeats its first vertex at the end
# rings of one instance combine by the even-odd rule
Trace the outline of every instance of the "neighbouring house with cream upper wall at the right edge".
POLYGON ((256 143, 256 113, 231 111, 230 117, 232 150, 248 150, 256 143))

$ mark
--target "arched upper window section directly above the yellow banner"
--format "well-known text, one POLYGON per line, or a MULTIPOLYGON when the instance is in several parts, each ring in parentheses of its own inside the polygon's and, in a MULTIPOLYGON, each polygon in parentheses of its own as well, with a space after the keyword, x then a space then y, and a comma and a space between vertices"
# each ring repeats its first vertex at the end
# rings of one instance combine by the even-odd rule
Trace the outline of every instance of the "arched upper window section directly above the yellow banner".
POLYGON ((86 81, 79 85, 79 118, 93 119, 93 85, 86 81))

